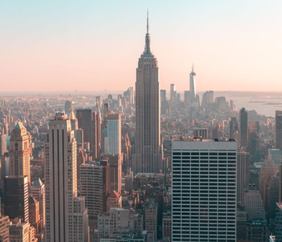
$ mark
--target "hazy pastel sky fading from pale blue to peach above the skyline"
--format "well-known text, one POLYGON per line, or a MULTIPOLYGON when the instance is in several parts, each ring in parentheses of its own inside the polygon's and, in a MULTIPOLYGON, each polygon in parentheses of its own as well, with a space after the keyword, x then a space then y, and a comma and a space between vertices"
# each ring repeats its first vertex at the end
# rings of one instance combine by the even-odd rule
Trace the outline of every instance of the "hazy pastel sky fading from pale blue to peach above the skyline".
POLYGON ((282 91, 280 0, 0 0, 0 91, 134 86, 147 8, 162 89, 282 91))

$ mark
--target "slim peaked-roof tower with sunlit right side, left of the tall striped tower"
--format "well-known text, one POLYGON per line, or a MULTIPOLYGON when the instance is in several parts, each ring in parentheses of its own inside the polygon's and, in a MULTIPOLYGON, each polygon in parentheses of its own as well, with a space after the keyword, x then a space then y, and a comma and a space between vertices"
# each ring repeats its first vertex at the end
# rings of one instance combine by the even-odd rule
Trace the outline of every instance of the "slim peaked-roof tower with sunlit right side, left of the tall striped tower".
POLYGON ((40 178, 34 180, 30 186, 32 196, 39 202, 41 229, 45 228, 45 186, 40 178))

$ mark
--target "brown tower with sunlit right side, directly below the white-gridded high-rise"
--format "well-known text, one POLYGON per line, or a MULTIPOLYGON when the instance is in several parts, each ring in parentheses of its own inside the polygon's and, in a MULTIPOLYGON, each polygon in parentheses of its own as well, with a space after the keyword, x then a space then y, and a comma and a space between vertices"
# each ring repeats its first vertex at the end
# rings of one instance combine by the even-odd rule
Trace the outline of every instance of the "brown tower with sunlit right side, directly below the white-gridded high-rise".
POLYGON ((110 190, 109 193, 117 191, 121 193, 121 165, 122 155, 102 155, 102 160, 107 160, 110 166, 110 190))

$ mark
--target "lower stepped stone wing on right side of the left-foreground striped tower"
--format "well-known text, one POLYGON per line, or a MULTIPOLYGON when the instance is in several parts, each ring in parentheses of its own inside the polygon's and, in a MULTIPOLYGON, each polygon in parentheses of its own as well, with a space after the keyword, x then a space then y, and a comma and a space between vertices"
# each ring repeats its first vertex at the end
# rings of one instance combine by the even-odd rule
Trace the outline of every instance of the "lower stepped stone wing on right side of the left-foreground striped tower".
POLYGON ((74 224, 74 241, 89 242, 89 222, 84 197, 74 200, 74 224))

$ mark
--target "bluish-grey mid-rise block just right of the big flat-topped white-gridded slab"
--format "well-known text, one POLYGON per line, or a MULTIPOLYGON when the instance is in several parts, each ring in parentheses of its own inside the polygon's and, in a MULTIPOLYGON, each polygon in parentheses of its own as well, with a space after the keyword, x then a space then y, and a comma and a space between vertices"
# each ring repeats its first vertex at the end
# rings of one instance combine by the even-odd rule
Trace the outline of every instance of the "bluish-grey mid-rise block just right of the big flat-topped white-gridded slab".
POLYGON ((263 201, 259 191, 256 191, 252 185, 244 191, 243 204, 246 208, 248 220, 265 218, 263 201))

